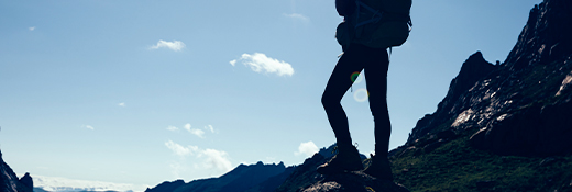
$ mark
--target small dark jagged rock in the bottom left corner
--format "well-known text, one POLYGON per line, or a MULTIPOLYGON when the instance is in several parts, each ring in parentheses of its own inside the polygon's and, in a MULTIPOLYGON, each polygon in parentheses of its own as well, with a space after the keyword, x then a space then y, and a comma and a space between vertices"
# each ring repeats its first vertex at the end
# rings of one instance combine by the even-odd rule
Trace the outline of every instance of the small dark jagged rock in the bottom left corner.
POLYGON ((2 151, 0 151, 0 192, 32 192, 32 190, 30 174, 26 173, 21 180, 18 179, 12 168, 2 159, 2 151))

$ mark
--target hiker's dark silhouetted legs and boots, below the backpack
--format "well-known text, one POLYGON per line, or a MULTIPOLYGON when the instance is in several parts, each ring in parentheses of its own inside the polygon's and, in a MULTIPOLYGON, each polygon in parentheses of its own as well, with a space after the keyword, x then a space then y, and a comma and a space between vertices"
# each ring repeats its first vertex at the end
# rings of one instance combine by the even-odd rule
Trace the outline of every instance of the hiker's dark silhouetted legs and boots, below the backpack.
POLYGON ((330 162, 320 166, 318 172, 328 174, 363 169, 360 155, 352 145, 348 116, 340 103, 348 89, 353 84, 352 74, 363 70, 370 109, 374 117, 375 135, 374 161, 372 161, 372 166, 365 172, 374 177, 385 176, 391 178, 391 169, 383 168, 388 167, 388 162, 382 162, 387 161, 389 135, 392 133, 389 112, 387 110, 388 67, 389 60, 385 48, 370 48, 361 44, 351 44, 340 57, 321 98, 323 109, 336 135, 338 155, 330 162), (380 167, 378 170, 372 170, 376 168, 374 166, 380 167))

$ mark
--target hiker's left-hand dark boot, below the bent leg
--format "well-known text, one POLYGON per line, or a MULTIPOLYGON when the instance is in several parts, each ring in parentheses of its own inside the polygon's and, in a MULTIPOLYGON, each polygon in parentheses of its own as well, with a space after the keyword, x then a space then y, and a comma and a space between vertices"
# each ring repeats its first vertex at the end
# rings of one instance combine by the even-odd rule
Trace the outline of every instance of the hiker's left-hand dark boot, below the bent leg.
POLYGON ((330 161, 318 167, 316 171, 320 174, 336 174, 362 169, 362 158, 360 158, 358 149, 352 145, 338 145, 338 154, 330 161))

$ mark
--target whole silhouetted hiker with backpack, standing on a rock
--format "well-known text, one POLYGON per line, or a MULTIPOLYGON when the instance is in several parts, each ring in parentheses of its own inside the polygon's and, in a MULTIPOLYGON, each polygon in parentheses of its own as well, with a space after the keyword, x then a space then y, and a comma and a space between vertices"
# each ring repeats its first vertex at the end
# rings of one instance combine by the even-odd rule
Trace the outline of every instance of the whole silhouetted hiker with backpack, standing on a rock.
POLYGON ((338 13, 344 16, 344 22, 338 26, 337 31, 337 38, 342 45, 343 54, 328 80, 321 102, 336 135, 338 154, 330 161, 318 167, 317 171, 321 174, 363 169, 360 154, 352 145, 348 116, 340 103, 348 89, 353 84, 353 80, 356 79, 354 74, 363 70, 370 109, 374 117, 375 136, 375 156, 372 156, 371 166, 363 171, 378 179, 393 179, 391 163, 387 160, 392 134, 387 110, 387 70, 389 68, 387 48, 399 46, 407 39, 410 30, 408 26, 413 25, 409 16, 411 1, 385 3, 387 7, 382 7, 383 1, 336 0, 338 13), (352 9, 356 10, 352 11, 352 9), (386 11, 387 9, 392 9, 392 12, 386 11), (362 19, 372 19, 361 21, 360 15, 362 19), (386 23, 397 24, 388 25, 386 23), (405 26, 405 31, 402 26, 405 26))

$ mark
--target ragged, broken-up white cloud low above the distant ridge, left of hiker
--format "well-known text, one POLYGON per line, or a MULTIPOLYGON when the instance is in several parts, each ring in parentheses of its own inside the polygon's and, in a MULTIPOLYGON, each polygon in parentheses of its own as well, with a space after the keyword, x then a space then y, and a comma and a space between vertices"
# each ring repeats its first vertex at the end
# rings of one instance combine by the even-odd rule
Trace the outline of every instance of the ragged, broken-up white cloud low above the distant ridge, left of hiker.
MULTIPOLYGON (((174 143, 173 140, 168 140, 165 143, 168 149, 170 149, 175 155, 180 157, 182 159, 187 156, 193 156, 200 159, 199 162, 195 163, 195 167, 198 169, 207 169, 211 171, 218 172, 227 172, 232 169, 232 163, 229 160, 229 155, 223 150, 217 149, 201 149, 197 146, 187 146, 184 147, 179 144, 174 143)), ((184 162, 184 161, 182 161, 184 162)), ((184 165, 179 162, 172 163, 172 169, 175 169, 174 172, 179 172, 184 165)))

